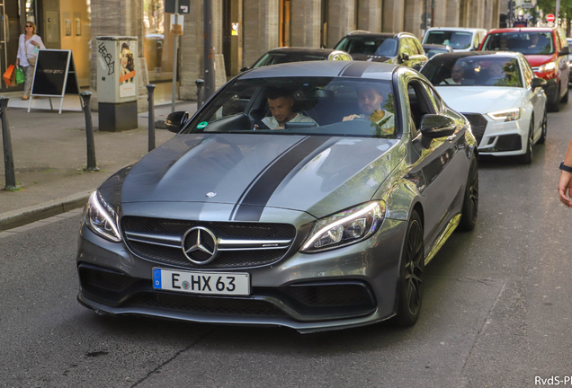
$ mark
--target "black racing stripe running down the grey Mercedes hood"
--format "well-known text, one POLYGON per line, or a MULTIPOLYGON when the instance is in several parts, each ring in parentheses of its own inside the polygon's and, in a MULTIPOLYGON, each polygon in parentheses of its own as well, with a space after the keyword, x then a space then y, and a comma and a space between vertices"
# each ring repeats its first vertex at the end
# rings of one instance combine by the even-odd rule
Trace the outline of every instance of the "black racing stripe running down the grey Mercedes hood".
POLYGON ((309 154, 324 145, 331 137, 307 137, 273 163, 246 193, 237 209, 235 221, 260 221, 260 216, 274 190, 288 174, 309 154))

